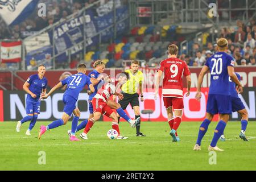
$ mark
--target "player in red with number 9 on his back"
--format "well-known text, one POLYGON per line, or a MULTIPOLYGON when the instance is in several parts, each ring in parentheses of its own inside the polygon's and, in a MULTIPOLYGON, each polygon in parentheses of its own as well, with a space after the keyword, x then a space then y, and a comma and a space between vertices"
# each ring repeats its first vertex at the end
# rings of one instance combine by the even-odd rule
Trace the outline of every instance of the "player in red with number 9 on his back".
POLYGON ((169 58, 160 63, 155 91, 155 100, 157 100, 159 96, 159 82, 164 73, 162 95, 164 106, 166 107, 168 114, 168 123, 171 128, 170 135, 172 136, 173 142, 180 141, 179 137, 177 136, 177 129, 180 126, 182 110, 184 109, 183 76, 187 79, 187 97, 190 94, 191 88, 191 73, 185 61, 177 59, 178 52, 179 48, 176 45, 169 46, 169 58), (175 118, 174 114, 172 113, 172 109, 174 109, 175 118))

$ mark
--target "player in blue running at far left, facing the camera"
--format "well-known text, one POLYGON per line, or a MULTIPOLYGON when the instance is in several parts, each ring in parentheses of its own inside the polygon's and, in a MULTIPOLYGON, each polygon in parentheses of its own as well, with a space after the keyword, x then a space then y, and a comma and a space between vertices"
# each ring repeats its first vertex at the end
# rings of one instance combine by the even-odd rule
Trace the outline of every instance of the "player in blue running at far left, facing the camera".
POLYGON ((23 89, 28 93, 26 99, 26 112, 27 116, 21 121, 18 121, 16 131, 20 132, 20 127, 27 121, 30 122, 30 126, 26 131, 26 135, 31 135, 30 131, 34 128, 38 114, 40 114, 40 96, 45 96, 46 87, 48 81, 44 74, 46 73, 46 67, 40 65, 38 67, 38 74, 31 75, 23 85, 23 89))

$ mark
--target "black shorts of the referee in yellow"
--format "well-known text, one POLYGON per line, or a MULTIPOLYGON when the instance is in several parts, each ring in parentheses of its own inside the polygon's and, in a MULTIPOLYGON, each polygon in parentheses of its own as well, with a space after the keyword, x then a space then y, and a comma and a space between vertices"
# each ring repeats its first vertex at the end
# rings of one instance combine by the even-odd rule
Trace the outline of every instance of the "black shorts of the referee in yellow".
POLYGON ((122 109, 125 110, 126 107, 131 104, 131 107, 134 106, 139 106, 139 94, 127 94, 127 93, 122 93, 123 94, 123 100, 119 100, 119 104, 121 105, 122 109))

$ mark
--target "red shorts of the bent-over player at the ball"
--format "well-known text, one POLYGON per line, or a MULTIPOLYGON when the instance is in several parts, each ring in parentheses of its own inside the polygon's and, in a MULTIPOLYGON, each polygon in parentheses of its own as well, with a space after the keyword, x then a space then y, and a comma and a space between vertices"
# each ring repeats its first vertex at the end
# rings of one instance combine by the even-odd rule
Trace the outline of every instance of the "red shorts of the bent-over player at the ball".
POLYGON ((107 117, 110 117, 110 115, 114 113, 114 111, 101 98, 93 98, 92 104, 94 109, 93 113, 101 113, 107 117))

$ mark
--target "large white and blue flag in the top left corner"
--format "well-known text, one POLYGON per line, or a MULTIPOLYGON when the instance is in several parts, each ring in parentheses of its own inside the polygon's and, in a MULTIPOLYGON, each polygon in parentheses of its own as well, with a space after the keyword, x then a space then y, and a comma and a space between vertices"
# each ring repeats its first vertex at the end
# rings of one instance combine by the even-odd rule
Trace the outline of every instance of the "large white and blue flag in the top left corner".
POLYGON ((19 24, 33 13, 38 2, 39 0, 0 0, 0 15, 9 26, 19 24))

